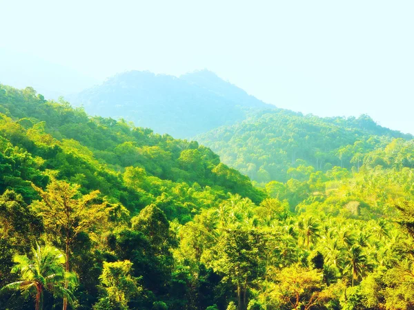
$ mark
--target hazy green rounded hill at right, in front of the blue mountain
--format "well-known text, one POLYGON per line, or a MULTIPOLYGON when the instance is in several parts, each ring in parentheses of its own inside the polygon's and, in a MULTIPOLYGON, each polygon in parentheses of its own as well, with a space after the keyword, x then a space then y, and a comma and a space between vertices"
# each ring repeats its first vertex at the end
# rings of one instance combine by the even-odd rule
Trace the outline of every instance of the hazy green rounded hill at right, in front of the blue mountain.
POLYGON ((325 172, 334 166, 359 169, 368 152, 393 138, 413 136, 377 125, 366 115, 321 118, 282 109, 259 112, 195 137, 224 163, 259 183, 286 182, 299 166, 325 172))

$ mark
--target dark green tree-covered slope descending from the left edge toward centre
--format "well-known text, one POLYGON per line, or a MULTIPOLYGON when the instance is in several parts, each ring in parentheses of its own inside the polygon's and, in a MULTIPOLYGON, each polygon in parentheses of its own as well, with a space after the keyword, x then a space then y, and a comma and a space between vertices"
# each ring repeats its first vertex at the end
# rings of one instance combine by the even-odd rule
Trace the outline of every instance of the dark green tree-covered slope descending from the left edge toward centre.
POLYGON ((66 102, 43 100, 31 88, 20 91, 1 85, 0 112, 1 190, 33 192, 28 181, 45 185, 45 172, 52 169, 58 178, 78 183, 84 191, 99 189, 132 211, 156 201, 161 204, 161 194, 168 200, 181 187, 193 193, 193 205, 184 207, 186 197, 177 202, 171 198, 169 207, 177 203, 187 216, 206 203, 197 196, 219 199, 230 192, 256 202, 263 198, 246 176, 221 164, 197 142, 154 134, 124 121, 90 118, 66 102))

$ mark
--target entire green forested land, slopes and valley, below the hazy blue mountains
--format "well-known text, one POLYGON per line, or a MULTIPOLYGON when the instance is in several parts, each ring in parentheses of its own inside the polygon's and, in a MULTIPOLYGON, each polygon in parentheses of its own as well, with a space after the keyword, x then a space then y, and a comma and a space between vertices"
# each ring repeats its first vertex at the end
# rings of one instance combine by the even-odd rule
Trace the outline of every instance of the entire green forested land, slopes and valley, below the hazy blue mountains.
POLYGON ((254 187, 31 87, 0 113, 0 309, 414 307, 411 136, 278 110, 201 137, 254 187))

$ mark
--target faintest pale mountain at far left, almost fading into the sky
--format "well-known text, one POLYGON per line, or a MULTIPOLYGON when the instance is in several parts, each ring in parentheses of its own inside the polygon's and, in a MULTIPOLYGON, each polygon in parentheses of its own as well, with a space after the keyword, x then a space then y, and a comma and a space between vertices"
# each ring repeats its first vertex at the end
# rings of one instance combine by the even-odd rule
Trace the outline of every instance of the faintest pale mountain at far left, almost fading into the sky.
POLYGON ((98 83, 90 76, 37 56, 0 49, 0 83, 33 87, 46 99, 80 92, 98 83))

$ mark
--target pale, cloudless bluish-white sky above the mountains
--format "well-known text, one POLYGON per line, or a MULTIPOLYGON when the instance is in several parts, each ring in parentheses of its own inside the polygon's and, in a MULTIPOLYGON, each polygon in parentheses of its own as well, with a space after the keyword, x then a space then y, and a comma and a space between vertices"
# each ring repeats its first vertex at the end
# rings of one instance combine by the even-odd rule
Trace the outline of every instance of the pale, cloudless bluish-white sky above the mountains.
POLYGON ((277 107, 369 114, 414 134, 412 0, 0 0, 0 8, 0 50, 90 83, 127 70, 206 68, 277 107))

